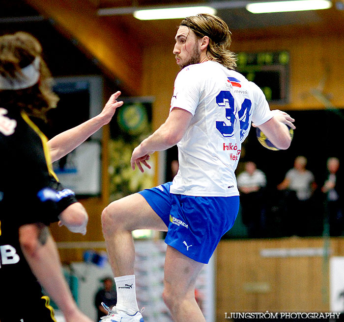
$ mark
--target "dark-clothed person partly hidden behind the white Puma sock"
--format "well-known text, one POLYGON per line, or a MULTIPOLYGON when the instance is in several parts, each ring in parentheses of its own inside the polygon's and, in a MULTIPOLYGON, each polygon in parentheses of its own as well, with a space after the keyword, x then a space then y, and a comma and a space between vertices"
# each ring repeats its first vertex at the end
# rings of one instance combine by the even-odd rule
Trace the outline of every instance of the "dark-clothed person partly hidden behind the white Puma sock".
POLYGON ((94 304, 97 308, 97 321, 108 314, 108 311, 102 306, 102 302, 109 308, 113 308, 117 303, 117 293, 115 288, 114 279, 110 276, 101 280, 103 287, 99 289, 94 298, 94 304))

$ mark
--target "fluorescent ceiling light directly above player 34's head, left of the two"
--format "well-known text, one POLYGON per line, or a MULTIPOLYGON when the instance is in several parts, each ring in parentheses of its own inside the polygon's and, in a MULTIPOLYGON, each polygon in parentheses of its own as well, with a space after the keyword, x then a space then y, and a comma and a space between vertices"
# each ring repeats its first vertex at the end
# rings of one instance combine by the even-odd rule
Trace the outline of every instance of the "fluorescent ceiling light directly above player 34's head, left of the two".
POLYGON ((175 19, 195 16, 198 13, 210 13, 214 15, 216 14, 216 10, 206 6, 147 9, 135 11, 134 17, 140 20, 175 19))

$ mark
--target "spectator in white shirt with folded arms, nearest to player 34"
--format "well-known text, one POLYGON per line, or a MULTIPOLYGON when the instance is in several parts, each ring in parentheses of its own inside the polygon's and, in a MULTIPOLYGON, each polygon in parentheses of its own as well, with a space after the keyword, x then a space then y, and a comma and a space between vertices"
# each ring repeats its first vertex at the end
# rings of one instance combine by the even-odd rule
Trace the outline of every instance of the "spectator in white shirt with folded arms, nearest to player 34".
POLYGON ((264 229, 265 174, 257 169, 254 162, 245 163, 245 171, 238 175, 242 222, 248 229, 249 237, 262 237, 264 229))

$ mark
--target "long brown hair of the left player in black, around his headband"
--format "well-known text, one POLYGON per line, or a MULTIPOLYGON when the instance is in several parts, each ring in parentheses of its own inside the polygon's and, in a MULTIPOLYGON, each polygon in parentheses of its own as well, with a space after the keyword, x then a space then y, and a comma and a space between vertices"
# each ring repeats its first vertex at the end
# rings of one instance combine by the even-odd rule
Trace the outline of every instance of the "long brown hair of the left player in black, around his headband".
POLYGON ((45 120, 46 112, 57 105, 58 97, 52 91, 52 77, 42 58, 42 47, 29 33, 19 31, 0 37, 0 74, 15 78, 21 69, 39 57, 40 77, 36 84, 20 90, 0 90, 0 107, 20 109, 45 120))

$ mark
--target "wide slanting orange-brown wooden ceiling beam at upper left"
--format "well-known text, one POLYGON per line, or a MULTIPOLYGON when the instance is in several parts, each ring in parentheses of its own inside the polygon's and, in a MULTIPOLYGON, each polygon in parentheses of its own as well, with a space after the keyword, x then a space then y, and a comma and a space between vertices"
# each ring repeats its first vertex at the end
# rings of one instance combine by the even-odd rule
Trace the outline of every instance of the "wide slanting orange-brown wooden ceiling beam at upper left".
MULTIPOLYGON (((118 24, 97 16, 88 0, 26 0, 38 12, 51 18, 76 39, 130 95, 140 95, 143 74, 142 50, 137 39, 118 24)), ((63 32, 63 31, 62 31, 63 32)))

